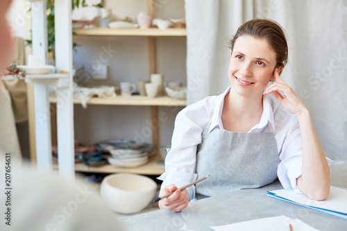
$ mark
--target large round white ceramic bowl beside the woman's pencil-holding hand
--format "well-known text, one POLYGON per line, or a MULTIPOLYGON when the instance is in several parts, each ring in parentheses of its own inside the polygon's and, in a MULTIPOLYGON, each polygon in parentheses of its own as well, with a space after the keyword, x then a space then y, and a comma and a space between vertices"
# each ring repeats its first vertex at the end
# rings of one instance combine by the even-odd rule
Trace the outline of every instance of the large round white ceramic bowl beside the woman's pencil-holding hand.
POLYGON ((101 182, 101 197, 109 209, 122 214, 140 212, 153 200, 157 184, 151 178, 131 173, 106 176, 101 182))

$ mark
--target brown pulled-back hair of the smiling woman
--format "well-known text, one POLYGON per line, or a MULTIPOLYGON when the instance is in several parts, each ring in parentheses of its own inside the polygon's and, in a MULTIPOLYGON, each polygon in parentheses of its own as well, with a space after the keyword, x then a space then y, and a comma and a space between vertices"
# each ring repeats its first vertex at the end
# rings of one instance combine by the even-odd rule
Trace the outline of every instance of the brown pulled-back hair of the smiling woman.
POLYGON ((288 60, 288 45, 282 26, 269 19, 253 19, 237 29, 230 40, 230 49, 234 49, 236 40, 242 35, 251 35, 266 40, 276 53, 276 67, 285 67, 288 60))

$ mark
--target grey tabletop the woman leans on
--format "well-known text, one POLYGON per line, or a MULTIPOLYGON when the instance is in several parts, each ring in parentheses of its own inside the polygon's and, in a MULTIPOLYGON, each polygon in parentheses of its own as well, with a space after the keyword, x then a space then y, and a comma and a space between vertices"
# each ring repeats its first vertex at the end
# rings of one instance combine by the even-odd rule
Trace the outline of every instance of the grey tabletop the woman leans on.
MULTIPOLYGON (((331 169, 332 185, 347 187, 347 162, 335 164, 331 169)), ((192 201, 179 213, 160 209, 130 216, 124 219, 124 226, 132 231, 211 230, 210 226, 214 225, 285 215, 319 230, 347 230, 347 219, 266 196, 266 191, 275 189, 282 189, 280 182, 192 201)))

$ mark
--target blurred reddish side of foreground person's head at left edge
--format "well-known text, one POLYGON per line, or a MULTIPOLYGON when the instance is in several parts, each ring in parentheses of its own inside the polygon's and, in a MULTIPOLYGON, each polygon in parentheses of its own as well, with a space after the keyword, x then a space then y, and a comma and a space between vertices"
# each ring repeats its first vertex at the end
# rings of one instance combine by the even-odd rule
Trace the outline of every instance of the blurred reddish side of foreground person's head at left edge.
POLYGON ((10 2, 11 0, 0 0, 0 73, 8 65, 12 51, 12 35, 6 20, 10 2))

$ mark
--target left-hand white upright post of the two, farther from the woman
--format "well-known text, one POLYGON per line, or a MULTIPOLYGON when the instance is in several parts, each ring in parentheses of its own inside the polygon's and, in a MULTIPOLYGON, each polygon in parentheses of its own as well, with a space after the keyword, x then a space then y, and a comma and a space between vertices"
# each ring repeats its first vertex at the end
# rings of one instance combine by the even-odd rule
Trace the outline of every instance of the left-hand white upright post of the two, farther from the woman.
MULTIPOLYGON (((33 54, 42 55, 46 62, 47 24, 46 1, 31 3, 33 54)), ((46 85, 34 84, 36 160, 39 171, 52 169, 51 114, 46 85)))

